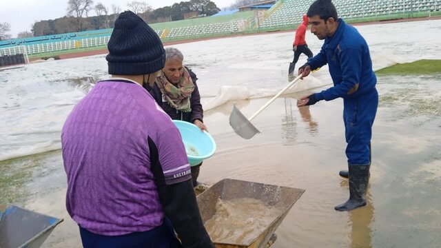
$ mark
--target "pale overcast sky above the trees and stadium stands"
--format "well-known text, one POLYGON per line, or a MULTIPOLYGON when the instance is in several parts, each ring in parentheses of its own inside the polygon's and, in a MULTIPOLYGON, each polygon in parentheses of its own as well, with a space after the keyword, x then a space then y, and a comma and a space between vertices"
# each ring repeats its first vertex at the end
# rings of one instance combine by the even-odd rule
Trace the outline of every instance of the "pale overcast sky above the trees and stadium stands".
MULTIPOLYGON (((133 0, 94 0, 96 3, 103 3, 110 12, 110 6, 115 4, 120 6, 121 10, 127 10, 127 3, 133 0)), ((137 0, 143 1, 143 0, 137 0)), ((181 0, 185 1, 185 0, 181 0)), ((181 1, 174 0, 147 0, 153 8, 172 6, 173 3, 181 1)), ((218 8, 231 6, 236 0, 212 0, 218 8)), ((66 14, 68 0, 0 0, 0 22, 7 22, 11 25, 10 34, 17 37, 19 32, 30 31, 35 21, 57 19, 66 14)), ((90 16, 95 15, 94 11, 90 16)))

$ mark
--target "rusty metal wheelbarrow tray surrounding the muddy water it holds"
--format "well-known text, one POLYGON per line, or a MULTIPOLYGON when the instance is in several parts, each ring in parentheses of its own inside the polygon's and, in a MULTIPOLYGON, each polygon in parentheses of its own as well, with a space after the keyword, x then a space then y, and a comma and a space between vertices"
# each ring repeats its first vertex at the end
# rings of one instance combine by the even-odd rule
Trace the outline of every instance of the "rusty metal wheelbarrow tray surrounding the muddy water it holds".
POLYGON ((305 189, 223 179, 199 194, 197 200, 203 223, 207 223, 207 220, 216 214, 216 203, 219 198, 225 201, 238 198, 257 199, 267 206, 280 209, 278 211, 280 214, 278 216, 271 216, 271 223, 263 231, 260 231, 259 234, 256 234, 255 237, 253 236, 252 239, 248 240, 247 243, 225 243, 212 240, 216 248, 265 248, 269 247, 271 242, 274 242, 276 238, 274 231, 282 223, 291 207, 303 192, 305 192, 305 189))

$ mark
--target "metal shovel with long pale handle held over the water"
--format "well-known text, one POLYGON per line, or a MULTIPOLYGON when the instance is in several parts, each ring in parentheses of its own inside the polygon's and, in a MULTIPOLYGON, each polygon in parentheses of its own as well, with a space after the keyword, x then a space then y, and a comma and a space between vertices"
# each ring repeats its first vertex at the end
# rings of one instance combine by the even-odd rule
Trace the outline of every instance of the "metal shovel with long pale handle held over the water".
POLYGON ((298 75, 296 77, 296 79, 294 79, 293 81, 291 81, 288 85, 286 85, 283 90, 280 90, 280 92, 278 92, 275 96, 273 96, 273 98, 271 98, 267 103, 265 103, 265 105, 263 105, 262 107, 260 107, 259 110, 257 110, 251 117, 247 118, 245 117, 240 110, 238 110, 238 108, 236 107, 236 105, 234 105, 233 107, 233 111, 232 113, 229 115, 229 125, 231 125, 233 127, 233 130, 236 134, 238 134, 238 136, 242 137, 242 138, 252 138, 254 135, 260 133, 260 131, 257 129, 257 127, 254 127, 254 125, 251 123, 252 119, 254 119, 254 117, 256 117, 258 114, 260 114, 260 112, 262 112, 263 110, 265 110, 265 108, 268 107, 269 104, 271 104, 272 102, 274 102, 274 100, 276 100, 276 98, 278 98, 278 96, 280 96, 281 94, 283 94, 283 92, 285 92, 286 90, 289 89, 289 87, 291 87, 292 85, 294 85, 294 83, 296 83, 296 81, 298 81, 298 79, 301 79, 302 75, 298 75))

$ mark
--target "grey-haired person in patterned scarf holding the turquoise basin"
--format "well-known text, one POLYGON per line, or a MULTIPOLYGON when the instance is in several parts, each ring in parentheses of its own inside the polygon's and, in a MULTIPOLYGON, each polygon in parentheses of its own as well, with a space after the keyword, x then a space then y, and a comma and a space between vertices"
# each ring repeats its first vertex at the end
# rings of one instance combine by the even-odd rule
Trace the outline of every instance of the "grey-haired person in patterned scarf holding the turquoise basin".
MULTIPOLYGON (((159 106, 173 120, 187 121, 207 130, 203 123, 203 109, 199 94, 196 74, 183 65, 184 56, 176 48, 165 49, 165 66, 156 77, 152 87, 146 89, 159 106)), ((193 186, 198 185, 197 179, 202 163, 192 166, 193 186)))

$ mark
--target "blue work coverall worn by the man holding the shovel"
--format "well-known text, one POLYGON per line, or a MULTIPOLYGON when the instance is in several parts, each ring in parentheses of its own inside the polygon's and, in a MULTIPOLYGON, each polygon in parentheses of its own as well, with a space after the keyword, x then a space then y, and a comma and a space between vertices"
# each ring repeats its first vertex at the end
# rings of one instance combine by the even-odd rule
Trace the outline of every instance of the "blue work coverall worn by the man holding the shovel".
POLYGON ((311 70, 329 66, 334 87, 316 93, 317 101, 342 97, 349 165, 369 165, 369 143, 378 107, 377 78, 369 47, 356 28, 338 19, 338 29, 327 37, 320 53, 308 60, 311 70))

